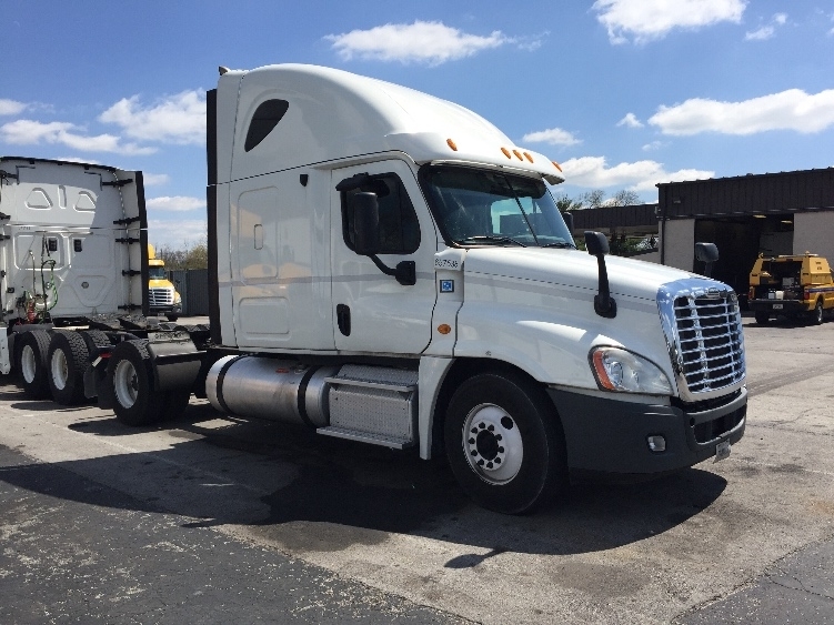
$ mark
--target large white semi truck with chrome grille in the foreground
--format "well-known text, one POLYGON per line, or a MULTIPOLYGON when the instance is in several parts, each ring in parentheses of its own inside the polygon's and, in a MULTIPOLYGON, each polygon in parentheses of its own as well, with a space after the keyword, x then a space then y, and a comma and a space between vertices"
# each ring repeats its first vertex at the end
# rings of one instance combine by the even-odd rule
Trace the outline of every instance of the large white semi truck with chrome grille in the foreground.
POLYGON ((582 473, 656 475, 744 432, 725 284, 576 250, 557 163, 475 113, 339 70, 221 68, 208 97, 210 336, 102 347, 88 379, 148 424, 228 414, 445 454, 523 513, 582 473), (103 386, 102 386, 103 384, 103 386))

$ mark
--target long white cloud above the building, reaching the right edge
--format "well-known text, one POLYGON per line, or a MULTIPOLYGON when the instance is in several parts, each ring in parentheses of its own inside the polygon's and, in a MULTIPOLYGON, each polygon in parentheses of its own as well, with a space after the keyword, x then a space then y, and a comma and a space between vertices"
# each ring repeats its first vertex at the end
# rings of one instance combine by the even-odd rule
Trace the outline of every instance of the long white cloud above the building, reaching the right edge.
POLYGON ((649 119, 664 134, 700 132, 755 134, 767 130, 820 132, 834 125, 834 89, 808 94, 801 89, 753 98, 742 102, 719 102, 694 98, 682 104, 660 107, 649 119))

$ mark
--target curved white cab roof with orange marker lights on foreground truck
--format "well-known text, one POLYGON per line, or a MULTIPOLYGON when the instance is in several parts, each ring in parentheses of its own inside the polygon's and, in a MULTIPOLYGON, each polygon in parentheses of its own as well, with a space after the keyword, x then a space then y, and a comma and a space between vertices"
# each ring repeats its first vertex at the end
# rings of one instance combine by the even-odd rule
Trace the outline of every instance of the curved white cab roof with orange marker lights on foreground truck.
POLYGON ((556 163, 515 145, 469 109, 342 70, 279 64, 228 71, 217 102, 219 183, 382 152, 564 181, 556 163))

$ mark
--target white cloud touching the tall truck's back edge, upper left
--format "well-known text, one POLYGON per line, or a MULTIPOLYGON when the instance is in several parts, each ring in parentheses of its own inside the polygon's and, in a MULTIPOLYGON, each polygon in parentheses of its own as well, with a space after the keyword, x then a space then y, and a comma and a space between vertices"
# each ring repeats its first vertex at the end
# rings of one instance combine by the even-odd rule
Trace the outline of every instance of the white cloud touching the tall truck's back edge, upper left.
POLYGON ((122 98, 99 121, 120 125, 124 134, 142 141, 199 145, 205 142, 205 92, 183 91, 150 107, 143 107, 139 95, 122 98))

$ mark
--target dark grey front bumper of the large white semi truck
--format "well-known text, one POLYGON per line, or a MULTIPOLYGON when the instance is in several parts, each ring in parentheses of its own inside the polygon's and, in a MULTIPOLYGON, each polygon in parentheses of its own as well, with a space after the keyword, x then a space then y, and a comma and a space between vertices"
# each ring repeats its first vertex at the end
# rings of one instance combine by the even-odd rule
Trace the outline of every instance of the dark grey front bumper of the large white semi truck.
POLYGON ((651 475, 685 468, 715 455, 715 446, 744 435, 747 390, 726 403, 674 405, 624 402, 549 389, 565 436, 567 467, 574 472, 651 475), (661 435, 663 452, 649 448, 661 435))

